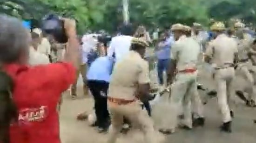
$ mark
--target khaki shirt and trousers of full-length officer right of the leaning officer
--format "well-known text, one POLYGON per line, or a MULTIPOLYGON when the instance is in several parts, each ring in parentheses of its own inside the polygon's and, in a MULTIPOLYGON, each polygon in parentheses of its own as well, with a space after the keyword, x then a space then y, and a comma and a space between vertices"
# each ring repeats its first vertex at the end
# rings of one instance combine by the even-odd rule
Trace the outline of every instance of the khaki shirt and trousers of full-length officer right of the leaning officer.
MULTIPOLYGON (((177 125, 177 115, 179 104, 182 102, 184 119, 182 124, 189 128, 192 128, 192 118, 191 118, 191 97, 196 99, 193 102, 201 101, 197 92, 197 71, 196 63, 198 61, 198 56, 200 54, 200 45, 191 37, 187 38, 184 35, 175 42, 172 47, 171 57, 172 60, 176 60, 177 63, 177 75, 175 76, 175 81, 171 88, 170 97, 170 113, 172 113, 171 122, 169 124, 169 129, 171 132, 175 132, 175 127, 177 125)), ((197 104, 199 105, 199 104, 197 104)), ((200 112, 202 108, 197 108, 197 113, 200 112)), ((199 115, 202 116, 202 115, 199 115)))

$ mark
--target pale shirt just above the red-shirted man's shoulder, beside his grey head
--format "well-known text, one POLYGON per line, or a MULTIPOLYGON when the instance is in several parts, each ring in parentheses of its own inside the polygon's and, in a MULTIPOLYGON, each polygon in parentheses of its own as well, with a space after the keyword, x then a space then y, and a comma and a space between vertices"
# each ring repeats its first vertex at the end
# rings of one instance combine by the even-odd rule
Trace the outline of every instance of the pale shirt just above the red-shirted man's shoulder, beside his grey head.
POLYGON ((39 51, 36 51, 33 47, 30 47, 28 63, 31 66, 35 66, 39 64, 48 64, 50 61, 45 54, 42 54, 39 51))

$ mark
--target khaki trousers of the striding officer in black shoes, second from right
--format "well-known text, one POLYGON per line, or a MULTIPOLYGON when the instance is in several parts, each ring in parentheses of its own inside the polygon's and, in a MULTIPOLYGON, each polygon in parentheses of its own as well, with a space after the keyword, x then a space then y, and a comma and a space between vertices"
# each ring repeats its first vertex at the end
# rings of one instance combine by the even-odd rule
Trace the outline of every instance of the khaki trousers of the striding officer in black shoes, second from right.
POLYGON ((235 69, 233 67, 218 69, 215 72, 218 106, 222 114, 222 122, 231 121, 230 101, 231 95, 235 95, 233 80, 235 69))

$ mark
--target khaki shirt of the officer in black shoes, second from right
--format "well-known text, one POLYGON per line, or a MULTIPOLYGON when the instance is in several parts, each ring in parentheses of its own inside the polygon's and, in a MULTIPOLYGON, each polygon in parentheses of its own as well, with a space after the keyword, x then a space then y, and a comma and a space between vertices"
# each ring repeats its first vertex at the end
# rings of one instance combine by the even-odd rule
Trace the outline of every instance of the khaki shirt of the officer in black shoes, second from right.
POLYGON ((234 63, 234 55, 237 51, 235 39, 221 34, 209 43, 205 55, 212 57, 214 66, 223 67, 225 63, 234 63))

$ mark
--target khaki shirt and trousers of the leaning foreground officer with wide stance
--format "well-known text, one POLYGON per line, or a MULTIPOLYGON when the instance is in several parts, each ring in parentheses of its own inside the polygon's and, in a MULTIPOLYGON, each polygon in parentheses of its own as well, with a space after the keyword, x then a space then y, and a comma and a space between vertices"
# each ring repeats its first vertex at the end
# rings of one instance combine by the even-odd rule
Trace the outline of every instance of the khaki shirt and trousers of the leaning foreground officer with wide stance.
POLYGON ((159 143, 155 141, 153 122, 148 114, 142 111, 140 102, 135 98, 137 84, 149 83, 148 62, 141 56, 130 51, 121 62, 115 64, 112 80, 108 88, 108 110, 110 112, 112 128, 107 143, 115 143, 118 133, 122 129, 123 118, 128 118, 132 124, 139 125, 145 136, 145 143, 159 143), (110 99, 130 101, 118 105, 110 99))

